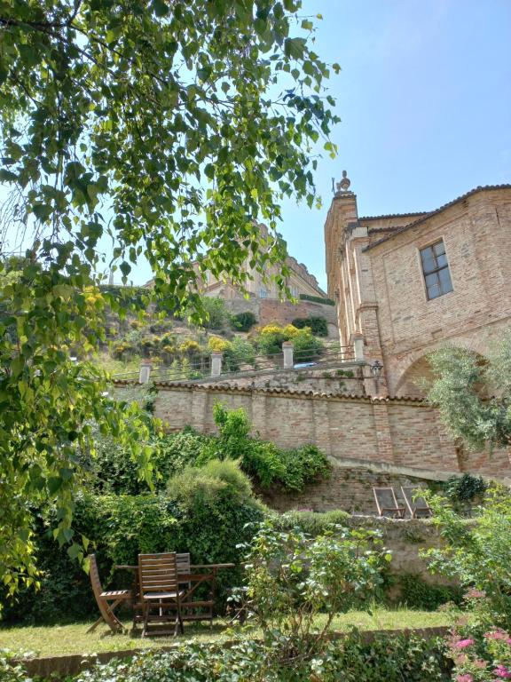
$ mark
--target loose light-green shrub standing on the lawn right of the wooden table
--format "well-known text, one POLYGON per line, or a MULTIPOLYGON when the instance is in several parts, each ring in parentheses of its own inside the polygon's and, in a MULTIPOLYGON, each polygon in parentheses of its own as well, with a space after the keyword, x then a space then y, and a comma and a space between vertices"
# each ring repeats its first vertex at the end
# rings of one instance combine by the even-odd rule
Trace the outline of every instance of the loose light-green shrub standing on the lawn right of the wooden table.
POLYGON ((390 559, 374 531, 331 527, 311 538, 299 528, 280 531, 272 519, 246 549, 248 615, 269 650, 279 646, 279 658, 288 659, 321 654, 334 615, 367 607, 390 559), (326 614, 320 626, 319 613, 326 614))

